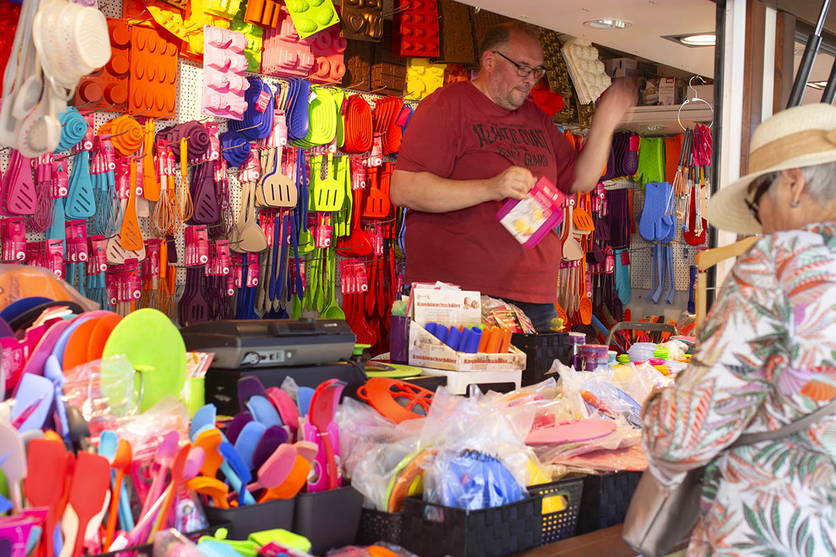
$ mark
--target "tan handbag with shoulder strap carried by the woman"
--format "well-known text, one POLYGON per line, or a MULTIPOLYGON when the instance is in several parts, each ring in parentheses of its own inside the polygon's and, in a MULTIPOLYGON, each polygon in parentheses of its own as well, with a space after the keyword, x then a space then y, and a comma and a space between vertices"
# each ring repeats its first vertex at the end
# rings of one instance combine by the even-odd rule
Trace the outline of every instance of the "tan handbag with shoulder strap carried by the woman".
MULTIPOLYGON (((834 412, 836 401, 775 431, 741 435, 728 448, 787 437, 834 412)), ((686 473, 681 484, 671 486, 661 484, 650 470, 641 474, 630 500, 630 509, 624 517, 621 530, 624 543, 642 555, 659 557, 686 539, 700 518, 700 494, 705 472, 705 466, 695 468, 686 473)))

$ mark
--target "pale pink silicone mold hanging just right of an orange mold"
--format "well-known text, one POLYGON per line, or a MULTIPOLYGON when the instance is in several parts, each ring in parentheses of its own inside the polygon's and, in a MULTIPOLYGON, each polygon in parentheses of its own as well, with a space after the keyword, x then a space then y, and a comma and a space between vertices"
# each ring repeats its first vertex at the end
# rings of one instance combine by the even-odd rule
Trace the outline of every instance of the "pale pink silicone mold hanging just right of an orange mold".
POLYGON ((229 29, 203 28, 203 110, 207 116, 240 120, 247 110, 247 36, 229 29))

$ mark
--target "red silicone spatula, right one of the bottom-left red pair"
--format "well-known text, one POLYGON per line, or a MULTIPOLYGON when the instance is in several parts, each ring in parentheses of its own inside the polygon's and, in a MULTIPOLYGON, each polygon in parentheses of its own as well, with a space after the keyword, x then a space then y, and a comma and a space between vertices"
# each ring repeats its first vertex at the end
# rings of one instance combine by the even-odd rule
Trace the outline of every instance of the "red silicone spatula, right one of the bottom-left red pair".
MULTIPOLYGON (((87 524, 104 505, 104 498, 110 489, 110 463, 99 454, 79 453, 69 488, 69 507, 78 519, 78 529, 73 540, 73 557, 81 557, 84 532, 87 524)), ((66 512, 66 511, 65 511, 66 512)), ((64 540, 69 544, 69 539, 64 540)))

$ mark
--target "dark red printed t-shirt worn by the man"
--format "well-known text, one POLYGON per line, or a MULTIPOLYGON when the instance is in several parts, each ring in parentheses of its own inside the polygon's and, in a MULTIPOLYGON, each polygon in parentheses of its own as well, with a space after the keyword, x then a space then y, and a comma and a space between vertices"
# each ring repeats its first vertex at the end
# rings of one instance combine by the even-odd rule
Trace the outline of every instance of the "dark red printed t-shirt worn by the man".
MULTIPOLYGON (((576 151, 543 110, 527 100, 506 110, 470 82, 436 90, 412 115, 395 170, 450 180, 482 180, 508 166, 545 175, 564 192, 576 151), (512 162, 513 161, 513 162, 512 162)), ((406 281, 445 281, 466 290, 532 303, 553 303, 562 246, 551 231, 528 250, 499 224, 505 204, 488 201, 448 213, 406 216, 406 281)))

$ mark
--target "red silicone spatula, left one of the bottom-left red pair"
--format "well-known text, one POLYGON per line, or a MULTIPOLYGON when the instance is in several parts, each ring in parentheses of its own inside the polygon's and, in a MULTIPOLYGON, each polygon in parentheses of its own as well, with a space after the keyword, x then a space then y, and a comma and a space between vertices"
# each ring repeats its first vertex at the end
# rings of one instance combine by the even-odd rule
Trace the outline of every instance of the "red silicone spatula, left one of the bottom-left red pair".
POLYGON ((64 443, 33 439, 26 451, 27 473, 23 481, 26 499, 34 507, 48 507, 43 520, 46 555, 53 557, 53 535, 58 522, 59 501, 64 495, 67 450, 64 443))

